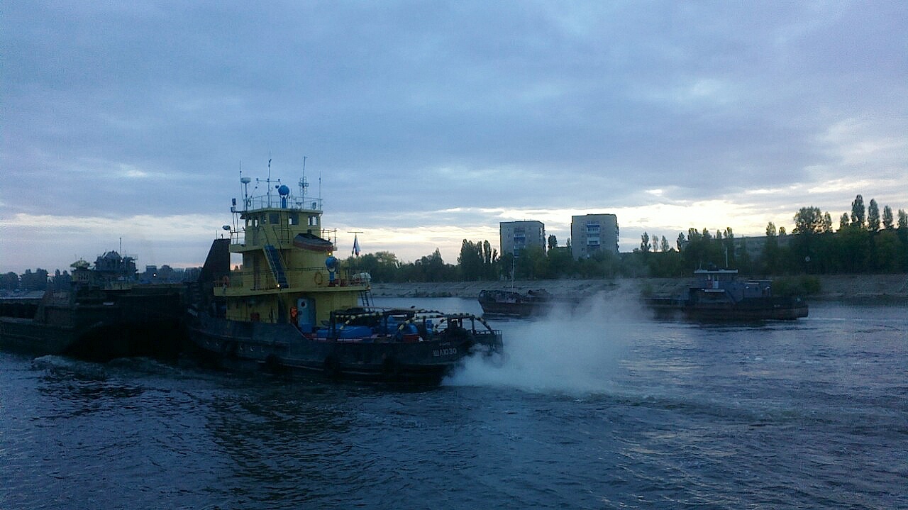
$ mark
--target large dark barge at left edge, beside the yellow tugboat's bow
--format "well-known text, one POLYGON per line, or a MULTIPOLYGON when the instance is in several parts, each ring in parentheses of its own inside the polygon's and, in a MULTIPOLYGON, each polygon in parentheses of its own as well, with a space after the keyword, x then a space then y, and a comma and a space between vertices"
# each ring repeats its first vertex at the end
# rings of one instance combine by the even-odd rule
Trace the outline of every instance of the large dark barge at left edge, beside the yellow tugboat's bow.
POLYGON ((70 289, 0 299, 0 348, 106 361, 175 358, 183 338, 183 284, 139 285, 129 257, 74 262, 70 289), (116 268, 116 270, 111 270, 116 268))

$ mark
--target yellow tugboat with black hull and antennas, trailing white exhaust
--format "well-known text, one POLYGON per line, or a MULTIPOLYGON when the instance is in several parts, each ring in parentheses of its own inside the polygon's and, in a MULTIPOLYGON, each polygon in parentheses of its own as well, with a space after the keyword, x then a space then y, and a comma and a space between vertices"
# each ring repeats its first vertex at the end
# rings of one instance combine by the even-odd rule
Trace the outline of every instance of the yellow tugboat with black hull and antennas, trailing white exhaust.
POLYGON ((214 240, 192 287, 197 354, 224 368, 438 383, 473 352, 500 350, 500 331, 479 317, 371 306, 369 274, 341 271, 305 178, 299 196, 280 180, 256 180, 252 195, 241 182, 229 239, 214 240), (233 270, 231 253, 242 255, 233 270))

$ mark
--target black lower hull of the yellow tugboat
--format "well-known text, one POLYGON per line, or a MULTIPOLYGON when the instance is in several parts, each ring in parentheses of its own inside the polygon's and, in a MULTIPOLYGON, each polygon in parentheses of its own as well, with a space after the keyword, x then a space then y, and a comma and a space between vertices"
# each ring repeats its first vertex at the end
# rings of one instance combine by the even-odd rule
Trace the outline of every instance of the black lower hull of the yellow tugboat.
POLYGON ((290 324, 206 316, 195 318, 188 332, 192 353, 219 368, 360 381, 438 384, 478 348, 473 338, 410 343, 313 339, 290 324))

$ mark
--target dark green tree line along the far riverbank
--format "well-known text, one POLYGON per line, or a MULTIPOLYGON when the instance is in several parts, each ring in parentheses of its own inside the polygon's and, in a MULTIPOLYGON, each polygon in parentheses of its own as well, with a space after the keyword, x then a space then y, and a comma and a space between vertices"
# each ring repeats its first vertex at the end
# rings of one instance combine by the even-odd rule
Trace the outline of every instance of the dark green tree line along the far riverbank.
MULTIPOLYGON (((908 213, 877 202, 864 205, 857 195, 851 213, 843 213, 834 228, 829 212, 803 207, 795 213, 791 233, 785 227, 766 225, 764 238, 737 242, 730 227, 712 232, 688 229, 672 245, 644 232, 632 252, 600 250, 589 258, 575 260, 567 246, 558 246, 554 235, 547 247, 531 247, 498 253, 489 240, 463 240, 456 264, 446 263, 439 250, 412 262, 401 262, 390 251, 366 253, 342 260, 344 270, 367 271, 378 282, 432 282, 476 280, 550 280, 562 278, 635 278, 689 276, 698 268, 719 267, 745 275, 858 274, 908 272, 908 213), (748 246, 757 243, 757 246, 748 246), (752 256, 752 253, 755 255, 752 256)), ((5 290, 60 289, 68 278, 59 270, 48 278, 46 270, 26 270, 2 275, 5 290)))

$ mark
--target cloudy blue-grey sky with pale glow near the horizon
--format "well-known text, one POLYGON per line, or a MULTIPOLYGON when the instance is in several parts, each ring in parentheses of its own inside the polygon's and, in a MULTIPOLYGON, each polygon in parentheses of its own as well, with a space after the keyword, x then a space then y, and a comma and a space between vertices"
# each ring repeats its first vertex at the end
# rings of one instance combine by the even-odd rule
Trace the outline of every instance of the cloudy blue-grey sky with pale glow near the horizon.
POLYGON ((349 254, 498 222, 791 230, 908 209, 904 2, 0 6, 0 270, 200 265, 239 176, 298 181, 349 254), (321 178, 321 186, 319 180, 321 178))

